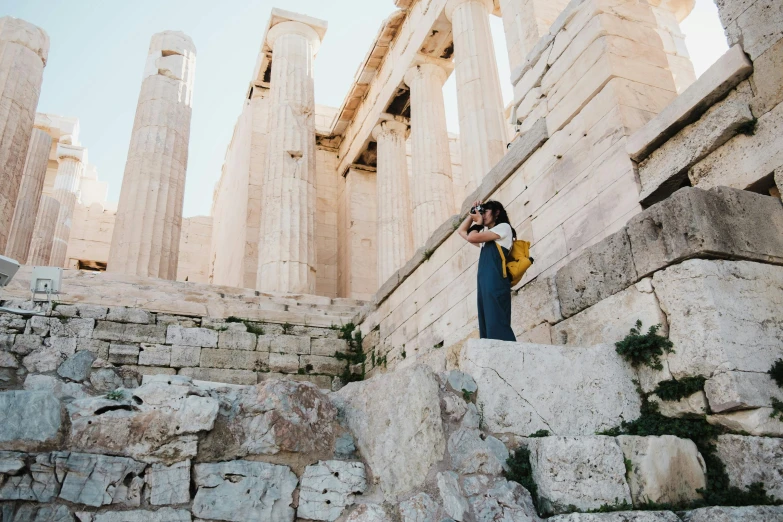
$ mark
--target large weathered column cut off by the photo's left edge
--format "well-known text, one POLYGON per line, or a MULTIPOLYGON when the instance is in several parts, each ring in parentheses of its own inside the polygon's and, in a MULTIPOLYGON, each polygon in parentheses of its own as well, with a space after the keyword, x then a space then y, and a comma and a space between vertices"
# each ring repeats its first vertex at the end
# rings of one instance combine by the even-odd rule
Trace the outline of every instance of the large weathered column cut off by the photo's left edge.
POLYGON ((41 94, 49 36, 0 17, 0 252, 5 252, 41 94))

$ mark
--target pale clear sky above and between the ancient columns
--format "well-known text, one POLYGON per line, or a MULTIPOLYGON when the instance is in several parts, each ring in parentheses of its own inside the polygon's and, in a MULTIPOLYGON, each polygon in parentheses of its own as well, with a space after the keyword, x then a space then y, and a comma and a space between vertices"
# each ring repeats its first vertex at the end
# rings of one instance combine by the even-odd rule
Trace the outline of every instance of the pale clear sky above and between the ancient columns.
MULTIPOLYGON (((726 49, 711 0, 683 24, 700 74, 726 49)), ((339 107, 392 0, 3 0, 51 39, 39 112, 75 116, 80 140, 109 200, 119 198, 150 36, 181 30, 196 44, 196 84, 185 188, 186 217, 208 215, 226 147, 242 107, 269 12, 282 7, 329 22, 315 66, 316 103, 339 107)), ((503 26, 492 17, 503 95, 511 99, 503 26)), ((454 78, 444 87, 449 129, 458 132, 454 78)))

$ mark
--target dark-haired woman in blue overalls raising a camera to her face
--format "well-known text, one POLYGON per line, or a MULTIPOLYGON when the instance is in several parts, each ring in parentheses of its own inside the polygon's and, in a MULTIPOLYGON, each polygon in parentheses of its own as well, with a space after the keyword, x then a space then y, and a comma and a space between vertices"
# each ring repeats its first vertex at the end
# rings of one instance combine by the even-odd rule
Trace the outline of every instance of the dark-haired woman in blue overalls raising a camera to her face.
POLYGON ((465 241, 481 248, 477 283, 479 336, 516 341, 511 329, 511 281, 503 277, 503 261, 495 246, 500 245, 508 258, 517 236, 506 210, 497 201, 476 201, 458 232, 465 241))

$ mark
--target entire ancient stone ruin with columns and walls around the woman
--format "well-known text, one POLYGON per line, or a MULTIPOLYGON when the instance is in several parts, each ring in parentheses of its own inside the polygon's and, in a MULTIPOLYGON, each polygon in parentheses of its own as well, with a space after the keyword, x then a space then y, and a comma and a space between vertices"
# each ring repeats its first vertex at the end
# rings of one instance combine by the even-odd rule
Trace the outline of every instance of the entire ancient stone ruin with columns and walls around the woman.
POLYGON ((688 0, 394 4, 339 109, 327 23, 272 11, 191 218, 198 42, 152 35, 114 204, 0 18, 0 522, 783 521, 783 3, 716 0, 698 78, 688 0), (455 233, 487 198, 515 343, 455 233))

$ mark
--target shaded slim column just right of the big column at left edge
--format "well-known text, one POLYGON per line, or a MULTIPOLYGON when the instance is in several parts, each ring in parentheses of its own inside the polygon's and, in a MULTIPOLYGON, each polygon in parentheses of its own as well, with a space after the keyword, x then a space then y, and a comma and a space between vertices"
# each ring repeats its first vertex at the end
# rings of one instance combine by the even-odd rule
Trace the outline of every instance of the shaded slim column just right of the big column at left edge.
POLYGON ((16 198, 14 219, 11 221, 11 233, 5 247, 5 255, 20 263, 24 263, 30 253, 30 241, 33 239, 35 217, 38 215, 38 204, 41 201, 51 149, 51 136, 41 129, 33 129, 30 145, 27 147, 24 175, 16 198))

